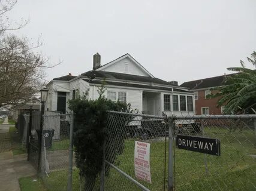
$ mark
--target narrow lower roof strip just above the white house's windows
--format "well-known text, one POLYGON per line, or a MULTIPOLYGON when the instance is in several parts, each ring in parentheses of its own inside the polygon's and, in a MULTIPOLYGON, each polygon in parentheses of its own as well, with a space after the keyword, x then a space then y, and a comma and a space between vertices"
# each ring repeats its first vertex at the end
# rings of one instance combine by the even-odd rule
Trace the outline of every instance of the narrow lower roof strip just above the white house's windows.
MULTIPOLYGON (((83 79, 84 81, 90 83, 90 84, 102 84, 102 81, 99 79, 83 79)), ((106 81, 106 85, 115 85, 115 86, 121 86, 121 87, 133 87, 133 88, 145 88, 145 89, 152 89, 152 90, 167 90, 167 91, 172 91, 171 87, 159 87, 157 85, 144 85, 144 84, 131 84, 127 82, 109 82, 106 81)), ((173 88, 173 91, 177 92, 183 92, 183 93, 191 93, 190 91, 185 91, 185 90, 180 90, 173 88)))

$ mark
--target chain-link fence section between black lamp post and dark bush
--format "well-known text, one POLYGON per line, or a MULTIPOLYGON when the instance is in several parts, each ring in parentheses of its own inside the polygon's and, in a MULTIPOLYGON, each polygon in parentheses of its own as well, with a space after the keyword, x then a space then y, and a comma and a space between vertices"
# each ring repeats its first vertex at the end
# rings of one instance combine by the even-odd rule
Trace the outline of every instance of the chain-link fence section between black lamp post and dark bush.
MULTIPOLYGON (((72 171, 72 166, 75 166, 73 155, 70 155, 73 152, 70 151, 71 115, 46 112, 43 123, 41 177, 47 190, 68 190, 68 181, 71 183, 68 170, 71 168, 72 171)), ((78 190, 76 170, 73 174, 73 190, 78 190)))

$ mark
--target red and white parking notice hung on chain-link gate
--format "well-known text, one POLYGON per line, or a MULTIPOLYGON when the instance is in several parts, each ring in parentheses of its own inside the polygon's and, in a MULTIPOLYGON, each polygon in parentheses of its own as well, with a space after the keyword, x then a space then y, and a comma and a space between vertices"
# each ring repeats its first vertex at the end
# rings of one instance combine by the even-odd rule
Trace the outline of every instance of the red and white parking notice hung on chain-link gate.
POLYGON ((150 175, 150 143, 135 141, 134 147, 134 170, 135 177, 151 183, 150 175))

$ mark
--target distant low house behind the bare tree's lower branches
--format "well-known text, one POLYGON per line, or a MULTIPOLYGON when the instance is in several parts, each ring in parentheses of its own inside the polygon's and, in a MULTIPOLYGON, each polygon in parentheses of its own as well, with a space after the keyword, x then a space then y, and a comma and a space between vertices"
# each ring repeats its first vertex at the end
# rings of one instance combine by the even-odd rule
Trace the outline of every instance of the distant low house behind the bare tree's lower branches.
POLYGON ((20 114, 29 113, 30 109, 32 109, 32 111, 39 111, 40 100, 38 100, 37 98, 31 98, 31 100, 26 101, 26 103, 19 104, 18 106, 14 107, 12 112, 13 119, 17 121, 20 114))

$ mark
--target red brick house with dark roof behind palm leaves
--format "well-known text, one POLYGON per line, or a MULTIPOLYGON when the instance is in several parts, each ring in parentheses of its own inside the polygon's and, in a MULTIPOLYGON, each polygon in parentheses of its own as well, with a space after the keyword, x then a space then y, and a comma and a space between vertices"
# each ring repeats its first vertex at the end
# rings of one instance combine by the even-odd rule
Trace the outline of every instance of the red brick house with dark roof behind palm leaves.
MULTIPOLYGON (((233 75, 233 74, 231 74, 233 75)), ((216 107, 217 98, 206 98, 208 94, 216 94, 218 91, 210 91, 213 87, 225 85, 226 76, 222 75, 212 78, 197 79, 195 81, 184 82, 180 87, 189 88, 195 94, 195 115, 221 115, 224 106, 216 107)))

